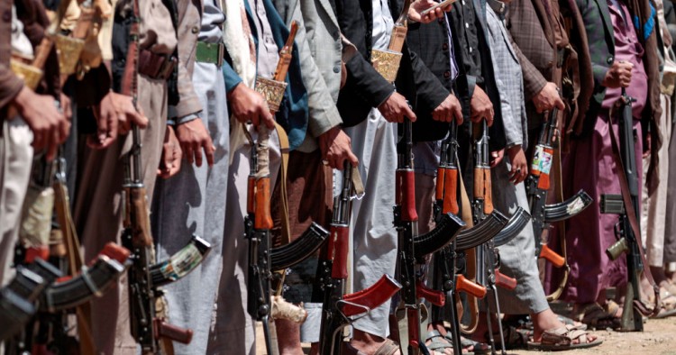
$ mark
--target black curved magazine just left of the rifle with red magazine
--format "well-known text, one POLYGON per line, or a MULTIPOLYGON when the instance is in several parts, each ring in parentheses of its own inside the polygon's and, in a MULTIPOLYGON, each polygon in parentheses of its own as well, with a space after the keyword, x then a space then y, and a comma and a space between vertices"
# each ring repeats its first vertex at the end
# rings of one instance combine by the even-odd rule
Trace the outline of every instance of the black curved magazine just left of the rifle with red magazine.
POLYGON ((270 250, 270 269, 287 269, 307 259, 324 244, 328 235, 321 225, 313 222, 297 240, 270 250))

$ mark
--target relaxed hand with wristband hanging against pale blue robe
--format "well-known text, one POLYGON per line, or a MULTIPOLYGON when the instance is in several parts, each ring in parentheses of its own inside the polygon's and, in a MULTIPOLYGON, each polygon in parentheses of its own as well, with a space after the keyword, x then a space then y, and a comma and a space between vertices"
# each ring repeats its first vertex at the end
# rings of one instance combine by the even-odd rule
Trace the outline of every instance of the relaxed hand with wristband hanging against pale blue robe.
POLYGON ((202 166, 202 149, 205 150, 206 163, 209 167, 214 166, 214 143, 211 141, 209 132, 206 132, 205 124, 199 118, 181 123, 176 126, 176 138, 180 143, 183 155, 187 162, 195 162, 197 167, 202 166))

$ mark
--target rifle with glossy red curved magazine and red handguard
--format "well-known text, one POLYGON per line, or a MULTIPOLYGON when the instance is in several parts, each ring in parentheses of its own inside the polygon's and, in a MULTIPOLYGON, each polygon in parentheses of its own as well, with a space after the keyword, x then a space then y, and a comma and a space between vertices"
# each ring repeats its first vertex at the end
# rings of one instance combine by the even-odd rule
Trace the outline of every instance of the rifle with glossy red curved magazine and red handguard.
POLYGON ((321 355, 340 354, 343 341, 340 341, 339 334, 345 326, 352 323, 351 317, 367 313, 370 309, 382 305, 401 288, 396 279, 383 275, 371 287, 345 295, 352 199, 357 198, 353 194, 352 165, 346 161, 341 193, 333 197, 331 237, 317 267, 317 281, 324 292, 319 338, 321 355))

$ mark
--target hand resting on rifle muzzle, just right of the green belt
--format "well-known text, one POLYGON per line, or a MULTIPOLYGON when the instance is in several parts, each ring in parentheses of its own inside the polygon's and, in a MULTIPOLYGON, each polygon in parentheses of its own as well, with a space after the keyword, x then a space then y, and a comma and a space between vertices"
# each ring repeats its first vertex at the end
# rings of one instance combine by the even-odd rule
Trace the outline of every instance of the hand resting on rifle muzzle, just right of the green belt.
POLYGON ((268 102, 255 90, 243 84, 234 86, 228 93, 228 102, 237 121, 251 122, 254 127, 264 123, 270 130, 275 128, 275 118, 269 112, 268 102))

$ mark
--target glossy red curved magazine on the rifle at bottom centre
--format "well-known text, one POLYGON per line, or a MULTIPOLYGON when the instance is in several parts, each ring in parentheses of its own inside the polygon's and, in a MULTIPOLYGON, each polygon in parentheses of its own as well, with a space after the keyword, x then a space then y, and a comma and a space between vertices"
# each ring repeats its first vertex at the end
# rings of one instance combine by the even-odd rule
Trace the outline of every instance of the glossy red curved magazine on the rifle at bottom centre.
POLYGON ((383 275, 375 284, 361 291, 343 296, 341 312, 352 316, 369 312, 392 298, 401 289, 401 284, 389 275, 383 275))

